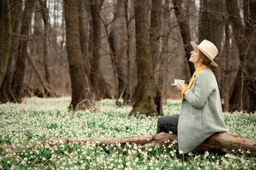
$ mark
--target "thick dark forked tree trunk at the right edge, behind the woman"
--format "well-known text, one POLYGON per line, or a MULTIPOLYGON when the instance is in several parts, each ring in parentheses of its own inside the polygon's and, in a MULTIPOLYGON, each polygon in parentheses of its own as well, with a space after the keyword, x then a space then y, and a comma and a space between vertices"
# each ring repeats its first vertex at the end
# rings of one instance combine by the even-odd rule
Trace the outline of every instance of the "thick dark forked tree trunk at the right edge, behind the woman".
POLYGON ((240 67, 238 69, 235 90, 230 98, 230 109, 232 111, 240 110, 253 113, 256 111, 256 2, 252 1, 250 4, 247 4, 248 1, 244 1, 244 3, 243 15, 245 16, 245 23, 242 23, 237 1, 226 1, 240 54, 240 67))

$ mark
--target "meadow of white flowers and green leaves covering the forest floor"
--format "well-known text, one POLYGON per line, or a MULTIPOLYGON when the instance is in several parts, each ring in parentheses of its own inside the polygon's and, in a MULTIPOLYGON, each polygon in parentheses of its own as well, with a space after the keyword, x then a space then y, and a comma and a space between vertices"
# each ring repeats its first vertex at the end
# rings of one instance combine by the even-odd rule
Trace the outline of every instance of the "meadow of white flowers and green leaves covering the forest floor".
MULTIPOLYGON (((114 100, 96 103, 97 110, 68 111, 71 98, 24 98, 23 103, 0 104, 0 169, 256 169, 255 155, 242 149, 232 153, 178 153, 174 145, 141 149, 127 143, 66 144, 46 137, 129 137, 154 135, 157 118, 129 118, 131 106, 114 100), (33 147, 31 147, 33 145, 33 147), (11 146, 11 147, 10 147, 11 146)), ((164 115, 178 114, 181 101, 168 100, 164 115)), ((224 113, 231 133, 256 140, 256 115, 224 113)))

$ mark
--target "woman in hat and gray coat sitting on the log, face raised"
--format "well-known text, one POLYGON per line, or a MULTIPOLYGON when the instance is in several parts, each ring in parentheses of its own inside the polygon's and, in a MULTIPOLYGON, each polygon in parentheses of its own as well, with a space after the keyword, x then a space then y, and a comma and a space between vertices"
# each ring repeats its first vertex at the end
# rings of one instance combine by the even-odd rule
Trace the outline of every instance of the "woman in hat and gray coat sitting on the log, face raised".
POLYGON ((215 132, 228 132, 223 120, 218 84, 210 64, 218 67, 213 61, 218 50, 212 42, 203 40, 200 45, 191 41, 193 51, 190 62, 196 71, 188 85, 178 84, 183 101, 181 114, 163 116, 157 123, 156 134, 173 132, 178 134, 178 149, 188 153, 196 149, 206 138, 215 132))

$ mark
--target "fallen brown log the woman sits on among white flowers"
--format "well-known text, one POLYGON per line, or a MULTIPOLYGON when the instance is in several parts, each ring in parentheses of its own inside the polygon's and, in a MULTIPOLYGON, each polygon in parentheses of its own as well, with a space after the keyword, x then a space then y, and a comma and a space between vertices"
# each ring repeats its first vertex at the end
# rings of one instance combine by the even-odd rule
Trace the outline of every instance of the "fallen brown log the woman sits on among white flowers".
MULTIPOLYGON (((141 145, 142 149, 146 147, 154 147, 156 145, 169 145, 169 143, 178 141, 177 135, 161 132, 158 135, 151 136, 134 136, 134 137, 95 137, 95 138, 71 138, 71 137, 60 137, 60 138, 46 138, 42 141, 43 144, 46 142, 58 142, 63 140, 66 143, 70 142, 96 142, 99 145, 110 145, 118 142, 121 146, 124 146, 127 142, 129 144, 135 143, 141 145), (166 143, 166 141, 169 141, 166 143), (151 144, 151 145, 149 145, 151 144)), ((176 142, 177 145, 177 142, 176 142)), ((246 137, 239 135, 233 135, 228 132, 215 133, 213 136, 208 137, 201 145, 199 145, 196 151, 213 151, 220 150, 222 152, 230 153, 233 150, 243 149, 244 151, 250 150, 250 153, 256 154, 256 141, 250 140, 246 137)))

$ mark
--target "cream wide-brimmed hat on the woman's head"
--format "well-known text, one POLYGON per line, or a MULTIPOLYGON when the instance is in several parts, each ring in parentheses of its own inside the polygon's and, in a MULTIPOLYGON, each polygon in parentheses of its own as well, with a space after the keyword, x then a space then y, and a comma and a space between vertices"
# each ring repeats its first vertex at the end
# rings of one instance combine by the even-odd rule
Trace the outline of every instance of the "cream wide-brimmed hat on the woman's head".
POLYGON ((218 54, 218 49, 213 44, 213 42, 210 42, 208 40, 203 40, 199 45, 196 45, 195 42, 191 41, 191 45, 194 50, 196 50, 196 48, 201 50, 201 52, 203 52, 203 54, 206 55, 206 57, 208 57, 208 59, 211 61, 210 64, 213 64, 215 67, 218 67, 218 64, 213 62, 213 59, 218 54))

